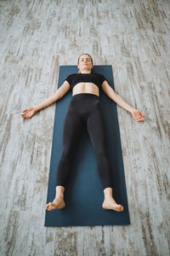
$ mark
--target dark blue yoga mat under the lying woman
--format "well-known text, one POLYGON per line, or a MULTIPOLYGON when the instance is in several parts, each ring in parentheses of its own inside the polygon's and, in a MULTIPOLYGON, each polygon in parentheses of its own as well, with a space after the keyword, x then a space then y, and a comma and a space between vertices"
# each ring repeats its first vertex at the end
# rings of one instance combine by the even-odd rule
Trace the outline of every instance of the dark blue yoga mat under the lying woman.
MULTIPOLYGON (((96 65, 92 72, 102 73, 111 87, 114 80, 111 65, 96 65)), ((77 66, 59 66, 58 88, 71 73, 78 73, 77 66)), ((48 177, 47 203, 54 201, 55 177, 62 152, 62 135, 65 114, 71 101, 72 92, 68 91, 56 102, 54 115, 53 142, 48 177)), ((44 226, 94 226, 94 225, 127 225, 130 224, 127 206, 127 190, 122 160, 121 137, 118 124, 116 102, 107 96, 104 90, 99 91, 101 107, 105 118, 108 157, 111 162, 113 197, 124 207, 123 212, 104 210, 104 192, 97 172, 97 160, 88 131, 84 128, 79 138, 75 156, 71 165, 71 177, 65 187, 64 209, 46 211, 44 226)), ((105 172, 105 170, 104 170, 105 172)))

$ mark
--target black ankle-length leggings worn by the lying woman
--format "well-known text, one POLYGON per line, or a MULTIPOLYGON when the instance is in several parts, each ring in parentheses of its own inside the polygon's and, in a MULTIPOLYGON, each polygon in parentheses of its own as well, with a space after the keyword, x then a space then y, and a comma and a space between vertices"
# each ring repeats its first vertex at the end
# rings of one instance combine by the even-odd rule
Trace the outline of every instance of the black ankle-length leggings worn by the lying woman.
MULTIPOLYGON (((105 124, 99 96, 80 93, 72 96, 64 120, 63 150, 56 173, 56 186, 67 184, 71 161, 77 144, 77 137, 85 125, 94 148, 97 170, 103 189, 111 184, 111 166, 106 150, 105 124)), ((89 177, 90 178, 90 177, 89 177)))

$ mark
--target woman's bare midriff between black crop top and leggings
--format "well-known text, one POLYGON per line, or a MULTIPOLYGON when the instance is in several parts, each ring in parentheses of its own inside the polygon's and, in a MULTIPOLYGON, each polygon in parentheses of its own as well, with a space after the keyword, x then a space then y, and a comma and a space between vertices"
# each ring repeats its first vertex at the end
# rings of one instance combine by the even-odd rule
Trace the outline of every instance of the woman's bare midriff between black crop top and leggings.
POLYGON ((72 96, 79 93, 91 93, 99 96, 99 88, 96 84, 93 83, 78 83, 72 90, 72 96))

